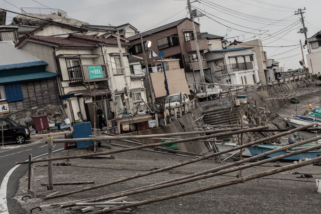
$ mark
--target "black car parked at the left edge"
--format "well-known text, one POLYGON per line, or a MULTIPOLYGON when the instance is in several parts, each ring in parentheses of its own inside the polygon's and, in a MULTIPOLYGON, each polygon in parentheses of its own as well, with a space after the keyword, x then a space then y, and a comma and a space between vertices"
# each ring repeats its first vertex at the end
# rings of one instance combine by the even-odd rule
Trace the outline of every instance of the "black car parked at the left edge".
POLYGON ((3 135, 5 142, 15 141, 22 144, 30 139, 30 132, 27 126, 19 125, 9 117, 0 117, 0 142, 2 141, 1 124, 3 124, 3 135))

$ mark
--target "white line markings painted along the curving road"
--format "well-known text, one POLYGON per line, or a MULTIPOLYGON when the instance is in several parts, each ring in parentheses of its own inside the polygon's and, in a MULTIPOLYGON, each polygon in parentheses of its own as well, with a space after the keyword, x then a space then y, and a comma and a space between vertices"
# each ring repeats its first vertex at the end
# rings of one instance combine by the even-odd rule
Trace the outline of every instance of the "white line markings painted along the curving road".
MULTIPOLYGON (((47 146, 47 145, 45 145, 47 146)), ((43 146, 42 146, 43 147, 43 146)), ((58 150, 55 150, 53 152, 57 152, 57 151, 60 151, 60 150, 63 150, 64 148, 61 148, 61 149, 58 149, 58 150)), ((32 150, 32 149, 30 149, 32 150)), ((25 150, 25 151, 28 151, 28 150, 25 150)), ((17 153, 20 153, 20 152, 16 152, 14 154, 17 154, 17 153)), ((42 154, 42 155, 39 155, 37 157, 34 157, 32 159, 35 159, 35 158, 39 158, 41 156, 44 156, 44 155, 47 155, 48 153, 46 154, 42 154)), ((7 155, 6 155, 7 156, 7 155)), ((3 156, 5 157, 5 156, 3 156)), ((2 158, 2 157, 0 157, 2 158)), ((28 161, 28 160, 25 160, 25 161, 28 161)), ((2 180, 2 183, 1 183, 1 186, 0 186, 0 213, 1 214, 9 214, 9 211, 8 211, 8 206, 7 206, 7 185, 8 185, 8 181, 9 181, 9 178, 10 178, 10 175, 13 173, 13 171, 18 168, 21 164, 17 165, 17 166, 14 166, 12 169, 9 170, 9 172, 4 176, 3 180, 2 180)))

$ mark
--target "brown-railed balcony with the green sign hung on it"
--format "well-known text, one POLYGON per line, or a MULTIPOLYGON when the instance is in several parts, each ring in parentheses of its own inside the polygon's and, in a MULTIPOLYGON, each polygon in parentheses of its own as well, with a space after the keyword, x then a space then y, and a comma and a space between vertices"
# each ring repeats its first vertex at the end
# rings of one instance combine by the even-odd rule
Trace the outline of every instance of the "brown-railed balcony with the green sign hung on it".
POLYGON ((76 65, 67 68, 67 71, 69 85, 108 80, 107 66, 105 64, 76 65))

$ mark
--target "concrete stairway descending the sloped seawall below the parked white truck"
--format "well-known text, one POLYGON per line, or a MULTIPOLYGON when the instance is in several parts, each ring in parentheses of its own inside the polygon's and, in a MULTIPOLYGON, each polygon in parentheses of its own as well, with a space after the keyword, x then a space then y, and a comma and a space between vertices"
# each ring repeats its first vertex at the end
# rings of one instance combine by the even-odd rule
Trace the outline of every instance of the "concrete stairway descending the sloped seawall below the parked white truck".
MULTIPOLYGON (((228 125, 228 124, 239 124, 239 111, 241 107, 234 108, 234 111, 230 113, 230 106, 214 107, 203 111, 205 115, 203 117, 204 124, 208 125, 228 125), (230 115, 231 114, 231 115, 230 115)), ((229 136, 219 137, 217 140, 230 141, 229 136)))

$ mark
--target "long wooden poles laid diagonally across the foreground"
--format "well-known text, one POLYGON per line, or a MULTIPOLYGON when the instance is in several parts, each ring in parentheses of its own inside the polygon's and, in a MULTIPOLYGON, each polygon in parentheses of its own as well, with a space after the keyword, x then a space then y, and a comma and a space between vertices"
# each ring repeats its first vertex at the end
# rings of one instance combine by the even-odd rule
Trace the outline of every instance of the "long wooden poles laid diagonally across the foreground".
MULTIPOLYGON (((253 142, 249 142, 247 144, 244 145, 240 145, 238 147, 234 147, 228 150, 224 150, 224 151, 220 151, 220 152, 215 152, 213 154, 209 154, 209 155, 204 155, 204 156, 200 156, 197 157, 195 159, 191 159, 188 161, 185 161, 183 163, 179 163, 179 164, 175 164, 172 166, 168 166, 168 167, 163 167, 157 170, 153 170, 153 171, 149 171, 149 172, 145 172, 142 174, 138 174, 138 175, 133 175, 130 177, 126 177, 126 178, 122 178, 122 179, 118 179, 115 181, 110 181, 108 183, 105 184, 99 184, 99 185, 95 185, 95 186, 91 186, 91 187, 87 187, 87 188, 82 188, 82 189, 78 189, 75 191, 71 191, 71 192, 67 192, 67 193, 61 193, 61 194, 56 194, 56 195, 52 195, 52 196, 46 196, 44 199, 52 199, 52 198, 57 198, 57 197, 61 197, 61 196, 66 196, 66 195, 71 195, 74 193, 79 193, 79 192, 84 192, 87 190, 92 190, 92 189, 97 189, 100 187, 104 187, 104 186, 108 186, 108 185, 112 185, 112 184, 117 184, 120 182, 124 182, 124 181, 128 181, 128 180, 132 180, 135 178, 139 178, 139 177, 143 177, 143 176, 147 176, 147 175, 152 175, 155 173, 159 173, 159 172, 163 172, 165 170, 169 170, 172 168, 176 168, 176 167, 180 167, 180 166, 184 166, 184 165, 188 165, 191 163, 195 163, 198 162, 200 160, 204 160, 207 158, 212 158, 212 157, 216 157, 218 155, 221 155, 223 153, 227 153, 230 151, 235 151, 235 150, 240 150, 242 148, 248 147, 248 146, 255 146, 258 143, 263 143, 265 141, 269 141, 278 137, 282 137, 285 136, 287 134, 291 134, 294 132, 298 132, 298 131, 302 131, 302 130, 306 130, 310 127, 312 127, 313 124, 310 125, 305 125, 302 126, 300 128, 296 128, 296 129, 292 129, 286 132, 282 132, 282 133, 278 133, 275 134, 273 136, 270 137, 266 137, 260 140, 256 140, 253 142)), ((91 157, 91 156, 97 156, 97 155, 102 155, 102 154, 113 154, 113 153, 119 153, 119 152, 125 152, 125 151, 130 151, 130 150, 137 150, 137 149, 143 149, 143 148, 151 148, 151 147, 155 147, 155 146, 159 146, 159 145, 166 145, 166 144, 170 144, 170 143, 182 143, 182 142, 187 142, 187 141, 195 141, 195 140, 203 140, 203 139, 208 139, 208 138, 212 138, 212 137, 217 137, 217 136, 224 136, 224 135, 231 135, 231 134, 239 134, 239 133, 246 133, 246 132, 254 132, 254 131, 262 131, 264 130, 266 127, 265 126, 261 126, 261 127, 256 127, 256 128, 248 128, 248 129, 243 129, 243 130, 237 130, 237 131, 231 131, 231 132, 225 132, 225 133, 215 133, 215 134, 210 134, 207 136, 200 136, 200 137, 194 137, 194 138, 188 138, 188 139, 179 139, 179 140, 175 140, 175 141, 169 141, 169 142, 162 142, 162 143, 153 143, 153 144, 144 144, 142 142, 137 142, 137 141, 133 141, 132 139, 148 139, 148 138, 153 138, 155 137, 155 135, 141 135, 141 136, 95 136, 92 138, 85 138, 85 139, 71 139, 73 141, 89 141, 89 140, 96 140, 100 139, 102 141, 106 141, 106 140, 122 140, 124 142, 135 142, 135 143, 140 143, 143 145, 139 145, 136 147, 131 147, 131 148, 126 148, 126 149, 120 149, 120 150, 112 150, 112 151, 108 151, 108 152, 100 152, 100 153, 95 153, 95 154, 87 154, 87 155, 78 155, 78 156, 70 156, 70 157, 60 157, 60 158, 47 158, 47 159, 40 159, 40 160, 32 160, 32 163, 36 163, 36 162, 43 162, 43 161, 52 161, 52 160, 60 160, 60 159, 71 159, 71 158, 80 158, 80 157, 91 157)), ((211 130, 213 131, 213 130, 211 130)), ((197 132, 199 133, 199 132, 197 132)), ((187 134, 187 133, 186 133, 187 134)), ((162 134, 161 136, 166 136, 166 134, 162 134)), ((159 135, 157 135, 157 137, 159 137, 159 135)), ((225 165, 221 165, 220 167, 215 167, 209 170, 205 170, 202 172, 197 172, 191 175, 185 175, 183 177, 178 177, 175 179, 171 179, 168 181, 163 181, 157 184, 151 184, 148 186, 142 186, 139 188, 135 188, 135 189, 131 189, 131 190, 126 190, 126 191, 122 191, 122 192, 118 192, 118 193, 112 193, 112 194, 107 194, 107 195, 103 195, 103 196, 97 196, 94 198, 87 198, 87 199, 82 199, 82 200, 77 200, 77 201, 66 201, 66 202, 62 202, 62 203, 58 203, 55 205, 60 205, 61 208, 64 207, 73 207, 76 206, 77 203, 92 203, 92 202, 97 202, 97 201, 106 201, 106 200, 110 200, 110 199, 115 199, 115 198, 119 198, 119 197, 124 197, 124 196, 128 196, 128 195, 134 195, 134 194, 138 194, 138 193, 144 193, 144 192, 148 192, 148 191, 152 191, 152 190, 157 190, 157 189, 162 189, 162 188, 166 188, 166 187, 170 187, 170 186, 174 186, 174 185, 180 185, 180 184, 185 184, 185 183, 189 183, 189 182, 193 182, 193 181, 197 181, 197 180, 201 180, 201 179, 206 179, 206 178, 210 178, 210 177, 214 177, 217 175, 224 175, 230 172, 235 172, 235 171, 239 171, 242 169, 246 169, 249 167, 253 167, 253 166, 257 166, 257 165, 261 165, 261 164, 265 164, 267 162, 272 162, 272 161, 276 161, 276 160, 280 160, 283 158, 287 158, 293 155, 297 155, 297 154, 301 154, 304 152, 308 152, 311 150, 316 150, 316 149, 320 149, 321 145, 316 145, 316 146, 309 146, 305 149, 302 150, 297 150, 297 151, 293 151, 293 152, 289 152, 286 153, 284 155, 279 155, 273 158, 268 158, 268 159, 264 159, 258 162, 253 162, 253 163, 249 163, 246 165, 241 165, 243 163, 249 162, 249 161, 253 161, 262 157, 265 157, 267 155, 271 155, 280 151, 284 151, 284 150, 289 150, 291 148, 294 147, 298 147, 301 145, 304 145, 306 143, 312 142, 312 141, 317 141, 321 139, 321 136, 318 137, 314 137, 314 138, 310 138, 308 140, 305 141, 299 141, 297 143, 291 144, 291 145, 287 145, 284 147, 280 147, 274 150, 271 150, 269 152, 265 152, 262 153, 260 155, 256 155, 250 158, 246 158, 246 159, 241 159, 239 161, 236 162, 232 162, 229 164, 225 164, 225 165), (236 167, 234 167, 236 166, 236 167)), ((65 139, 64 140, 53 140, 54 142, 65 142, 65 141, 69 141, 69 139, 65 139)), ((299 162, 299 163, 295 163, 295 164, 291 164, 285 167, 279 167, 277 169, 272 169, 272 170, 268 170, 265 172, 261 172, 261 173, 257 173, 254 175, 249 175, 249 176, 245 176, 245 177, 241 177, 241 178, 237 178, 237 179, 232 179, 230 181, 225 181, 225 182, 221 182, 218 184, 212 184, 212 185, 208 185, 208 186, 203 186, 200 188, 196 188, 196 189, 192 189, 192 190, 188 190, 185 192, 179 192, 179 193, 174 193, 171 195, 166 195, 166 196, 160 196, 157 198, 153 198, 153 199, 149 199, 149 200, 145 200, 145 201, 138 201, 138 202, 132 202, 132 203, 127 203, 124 205, 120 205, 120 206, 116 206, 116 207, 110 207, 110 208, 104 208, 103 210, 97 210, 92 212, 93 214, 100 214, 100 213, 109 213, 109 212, 114 212, 114 211, 118 211, 118 210, 124 210, 124 209, 128 209, 128 208, 132 208, 132 207, 137 207, 137 206, 141 206, 144 204, 150 204, 150 203, 154 203, 154 202, 158 202, 158 201, 164 201, 164 200, 169 200, 169 199, 173 199, 173 198, 178 198, 178 197, 182 197, 182 196, 186 196, 186 195, 191 195, 191 194, 195 194, 195 193, 200 193, 200 192, 204 192, 207 190, 212 190, 212 189, 216 189, 216 188, 221 188, 224 186, 228 186, 228 185, 232 185, 232 184, 238 184, 241 182, 245 182, 248 180, 252 180, 252 179, 256 179, 256 178, 260 178, 260 177, 264 177, 267 175, 273 175, 276 173, 280 173, 280 172, 284 172, 287 170, 291 170, 291 169, 295 169, 298 167, 302 167, 302 166, 306 166, 309 164, 313 164, 313 163, 317 163, 321 161, 321 157, 318 158, 313 158, 313 159, 309 159, 303 162, 299 162)), ((30 161, 29 161, 30 162, 30 161)), ((28 161, 26 162, 18 162, 17 164, 26 164, 28 163, 28 161)))

